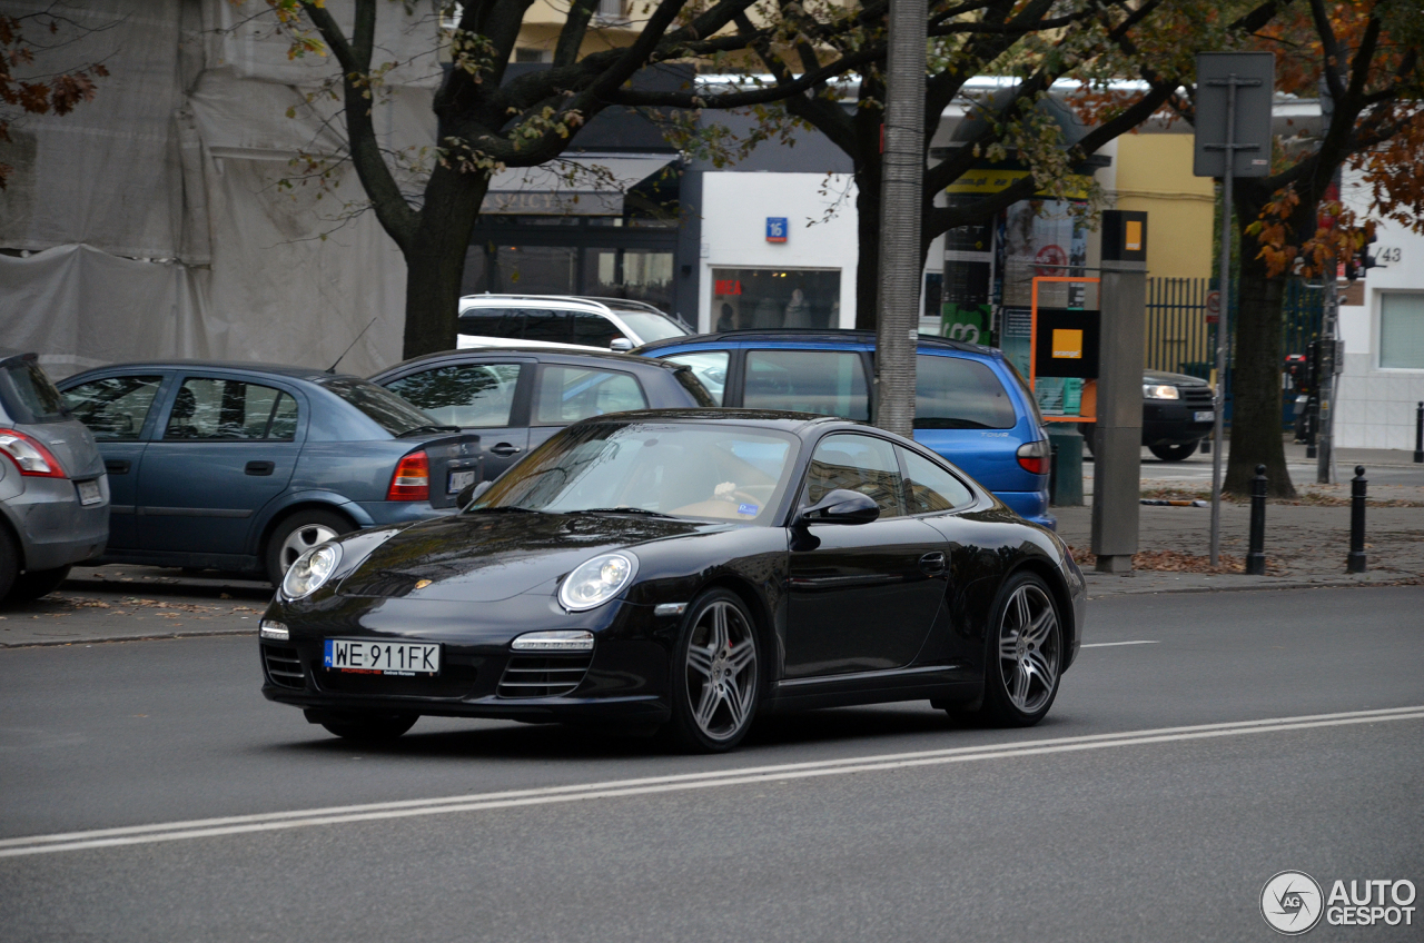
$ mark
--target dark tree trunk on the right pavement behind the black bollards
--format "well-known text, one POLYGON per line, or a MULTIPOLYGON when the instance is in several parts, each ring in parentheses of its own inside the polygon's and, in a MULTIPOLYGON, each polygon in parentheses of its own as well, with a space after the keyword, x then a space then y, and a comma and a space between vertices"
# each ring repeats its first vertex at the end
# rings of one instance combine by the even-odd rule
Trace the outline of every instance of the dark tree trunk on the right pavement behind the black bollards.
MULTIPOLYGON (((1250 222, 1259 207, 1236 204, 1237 219, 1250 222)), ((1280 429, 1282 305, 1284 276, 1267 278, 1266 264, 1256 258, 1256 236, 1240 234, 1240 303, 1236 306, 1236 359, 1232 376, 1232 449, 1223 491, 1250 494, 1256 466, 1266 466, 1269 493, 1294 497, 1286 470, 1286 446, 1280 429)))

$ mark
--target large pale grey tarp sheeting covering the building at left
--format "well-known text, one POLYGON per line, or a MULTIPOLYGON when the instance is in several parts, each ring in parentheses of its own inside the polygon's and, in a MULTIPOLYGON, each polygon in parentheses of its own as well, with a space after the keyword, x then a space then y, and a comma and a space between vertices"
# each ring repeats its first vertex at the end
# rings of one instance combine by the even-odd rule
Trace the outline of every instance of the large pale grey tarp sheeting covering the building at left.
MULTIPOLYGON (((434 141, 436 3, 380 11, 376 63, 400 63, 376 127, 399 150, 434 141)), ((349 4, 329 0, 346 19, 349 4)), ((326 57, 288 58, 262 0, 0 0, 90 30, 36 70, 104 60, 94 101, 26 117, 0 142, 0 346, 56 376, 144 358, 342 369, 397 360, 406 266, 355 171, 323 194, 299 154, 342 152, 335 103, 308 94, 326 57), (295 108, 295 118, 288 110, 295 108)))

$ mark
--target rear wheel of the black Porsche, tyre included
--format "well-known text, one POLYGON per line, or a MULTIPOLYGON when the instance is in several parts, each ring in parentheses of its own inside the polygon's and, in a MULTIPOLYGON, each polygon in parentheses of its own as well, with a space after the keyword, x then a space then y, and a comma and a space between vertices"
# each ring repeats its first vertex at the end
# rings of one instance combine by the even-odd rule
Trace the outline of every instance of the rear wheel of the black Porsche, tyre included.
POLYGON ((984 672, 984 719, 1032 726, 1052 707, 1064 664, 1062 624, 1048 584, 1015 573, 998 591, 984 672))

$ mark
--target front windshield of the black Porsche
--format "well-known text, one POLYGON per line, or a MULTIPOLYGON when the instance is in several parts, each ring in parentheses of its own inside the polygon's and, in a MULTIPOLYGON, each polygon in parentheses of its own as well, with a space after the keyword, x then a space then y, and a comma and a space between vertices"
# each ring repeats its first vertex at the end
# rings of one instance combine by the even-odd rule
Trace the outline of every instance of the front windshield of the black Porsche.
POLYGON ((795 446, 793 436, 731 423, 571 426, 510 469, 471 510, 770 524, 795 446))

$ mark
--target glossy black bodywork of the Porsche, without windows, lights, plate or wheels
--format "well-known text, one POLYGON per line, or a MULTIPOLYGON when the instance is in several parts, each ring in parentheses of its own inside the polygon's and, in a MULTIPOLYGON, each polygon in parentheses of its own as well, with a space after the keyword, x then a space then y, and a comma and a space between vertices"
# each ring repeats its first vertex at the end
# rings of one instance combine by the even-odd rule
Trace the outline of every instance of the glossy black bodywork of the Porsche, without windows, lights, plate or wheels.
MULTIPOLYGON (((732 422, 775 419, 778 427, 796 434, 802 446, 792 480, 797 483, 822 436, 847 430, 881 434, 819 416, 719 412, 732 422)), ((638 416, 649 422, 706 422, 706 413, 691 410, 624 413, 617 419, 638 416)), ((893 440, 933 456, 907 440, 893 440)), ((1058 537, 1025 523, 977 484, 971 490, 974 500, 964 509, 894 519, 914 524, 911 530, 923 528, 916 533, 926 546, 938 537, 937 547, 947 556, 943 573, 886 574, 854 551, 837 553, 826 566, 799 567, 797 554, 813 560, 827 544, 853 544, 853 531, 866 531, 843 524, 789 526, 799 487, 787 489, 776 517, 783 526, 775 527, 491 510, 363 531, 340 541, 346 551, 326 585, 303 600, 279 595, 268 608, 263 618, 288 625, 290 641, 263 641, 263 654, 295 650, 305 679, 296 689, 273 684, 265 671, 262 692, 272 701, 318 712, 370 708, 447 717, 662 722, 671 712, 666 692, 682 620, 656 615, 654 607, 689 603, 711 587, 726 587, 742 597, 756 620, 763 664, 769 665, 763 711, 921 698, 970 701, 983 687, 998 587, 1020 568, 1042 575, 1057 597, 1067 670, 1081 642, 1082 574, 1058 537), (638 557, 635 583, 608 604, 567 613, 557 600, 560 580, 608 550, 631 550, 638 557), (802 585, 799 595, 797 578, 822 584, 802 585), (423 580, 430 583, 420 587, 423 580), (797 598, 812 595, 824 597, 816 603, 822 613, 856 611, 871 627, 891 621, 886 640, 857 651, 834 631, 829 638, 815 638, 815 620, 797 617, 793 628, 797 598), (903 601, 907 595, 917 597, 909 607, 903 601), (894 625, 893 613, 906 608, 914 610, 914 618, 894 625), (504 667, 514 657, 510 641, 541 628, 594 632, 597 644, 582 684, 557 698, 497 695, 504 667), (437 682, 326 672, 320 670, 322 645, 333 637, 443 642, 450 671, 443 671, 437 682), (824 657, 813 657, 817 652, 824 657)))

